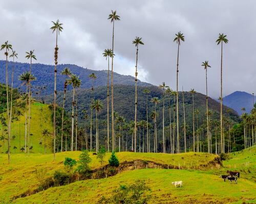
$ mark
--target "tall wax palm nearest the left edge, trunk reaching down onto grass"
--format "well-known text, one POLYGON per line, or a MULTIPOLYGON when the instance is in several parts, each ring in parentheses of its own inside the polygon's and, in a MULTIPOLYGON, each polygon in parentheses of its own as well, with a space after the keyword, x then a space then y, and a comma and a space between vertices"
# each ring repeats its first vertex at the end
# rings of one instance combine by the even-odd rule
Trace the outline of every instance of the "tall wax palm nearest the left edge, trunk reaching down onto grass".
POLYGON ((12 50, 12 45, 6 41, 1 45, 1 50, 5 50, 6 56, 6 104, 7 104, 7 122, 8 122, 8 163, 10 163, 10 146, 11 146, 11 120, 9 119, 9 92, 8 92, 8 51, 12 50))

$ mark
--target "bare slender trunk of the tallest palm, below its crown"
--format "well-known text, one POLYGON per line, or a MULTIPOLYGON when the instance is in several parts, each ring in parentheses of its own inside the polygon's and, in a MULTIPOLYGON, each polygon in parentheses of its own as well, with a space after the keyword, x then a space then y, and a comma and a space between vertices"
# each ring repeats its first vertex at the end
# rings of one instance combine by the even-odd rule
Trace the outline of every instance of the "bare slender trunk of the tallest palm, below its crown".
POLYGON ((114 132, 114 88, 113 88, 113 62, 114 62, 114 27, 115 20, 113 20, 113 34, 112 34, 112 62, 111 62, 111 115, 112 115, 112 151, 115 150, 115 132, 114 132))

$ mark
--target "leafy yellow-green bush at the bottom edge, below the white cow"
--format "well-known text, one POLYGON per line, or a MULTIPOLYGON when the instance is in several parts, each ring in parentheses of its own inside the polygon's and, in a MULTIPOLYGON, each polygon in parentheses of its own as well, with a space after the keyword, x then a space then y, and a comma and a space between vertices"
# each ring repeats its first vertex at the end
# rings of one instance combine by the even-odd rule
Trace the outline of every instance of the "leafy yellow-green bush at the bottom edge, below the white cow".
POLYGON ((120 185, 118 189, 113 191, 110 198, 104 196, 100 199, 99 203, 113 203, 113 204, 146 204, 151 199, 151 190, 146 186, 145 181, 136 180, 131 185, 120 185))

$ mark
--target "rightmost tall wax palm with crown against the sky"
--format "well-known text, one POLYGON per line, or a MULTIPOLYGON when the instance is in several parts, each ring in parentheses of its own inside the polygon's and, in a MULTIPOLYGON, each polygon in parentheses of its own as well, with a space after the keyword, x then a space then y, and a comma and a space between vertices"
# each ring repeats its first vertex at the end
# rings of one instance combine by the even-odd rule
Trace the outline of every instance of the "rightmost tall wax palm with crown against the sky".
POLYGON ((228 43, 228 39, 226 38, 227 36, 224 35, 223 33, 219 33, 219 37, 216 40, 217 45, 221 44, 221 152, 225 153, 225 145, 224 145, 224 135, 223 135, 223 115, 222 115, 222 103, 223 103, 223 97, 222 97, 222 50, 223 50, 223 42, 226 44, 228 43))

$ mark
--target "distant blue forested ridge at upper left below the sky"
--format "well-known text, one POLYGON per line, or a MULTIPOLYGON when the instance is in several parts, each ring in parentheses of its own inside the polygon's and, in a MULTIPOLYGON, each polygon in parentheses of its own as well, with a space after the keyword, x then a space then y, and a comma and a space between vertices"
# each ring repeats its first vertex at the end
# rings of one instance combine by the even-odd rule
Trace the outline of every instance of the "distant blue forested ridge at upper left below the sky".
MULTIPOLYGON (((11 70, 12 70, 12 62, 8 62, 8 75, 9 75, 9 84, 11 84, 11 70)), ((6 75, 6 61, 0 60, 0 67, 2 69, 2 74, 0 75, 0 83, 5 83, 5 75, 6 75)), ((19 75, 29 71, 29 64, 28 63, 14 63, 14 88, 21 87, 23 90, 25 86, 22 86, 22 82, 18 80, 19 75)), ((94 72, 96 74, 96 81, 94 83, 95 87, 98 86, 106 86, 107 84, 107 75, 108 70, 92 70, 88 68, 79 67, 73 64, 60 64, 57 65, 57 91, 63 89, 65 76, 61 75, 61 71, 68 67, 73 74, 79 75, 79 79, 82 81, 81 88, 90 88, 92 86, 92 81, 88 78, 88 75, 94 72)), ((54 66, 53 65, 46 65, 46 64, 32 64, 32 74, 36 77, 36 80, 32 82, 32 86, 35 87, 46 87, 46 90, 42 91, 42 94, 52 94, 54 89, 54 66)), ((111 74, 110 74, 111 76, 111 74)), ((114 72, 114 84, 122 84, 122 85, 134 85, 135 78, 131 75, 122 75, 114 72)), ((110 77, 111 82, 111 77, 110 77)), ((138 86, 150 86, 151 84, 141 82, 138 80, 138 86)), ((68 90, 71 89, 71 86, 68 87, 68 90)))

